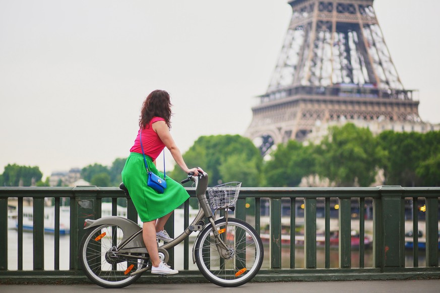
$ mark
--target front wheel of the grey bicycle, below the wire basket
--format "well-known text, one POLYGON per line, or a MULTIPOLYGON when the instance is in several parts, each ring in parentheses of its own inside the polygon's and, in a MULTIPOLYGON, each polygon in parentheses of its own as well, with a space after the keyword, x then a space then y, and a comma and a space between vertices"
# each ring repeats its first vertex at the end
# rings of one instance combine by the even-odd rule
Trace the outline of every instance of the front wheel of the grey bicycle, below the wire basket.
POLYGON ((220 256, 212 227, 200 234, 196 246, 196 263, 211 282, 223 287, 236 287, 250 281, 263 263, 263 243, 257 231, 244 221, 225 218, 215 222, 220 237, 227 246, 228 257, 220 256))

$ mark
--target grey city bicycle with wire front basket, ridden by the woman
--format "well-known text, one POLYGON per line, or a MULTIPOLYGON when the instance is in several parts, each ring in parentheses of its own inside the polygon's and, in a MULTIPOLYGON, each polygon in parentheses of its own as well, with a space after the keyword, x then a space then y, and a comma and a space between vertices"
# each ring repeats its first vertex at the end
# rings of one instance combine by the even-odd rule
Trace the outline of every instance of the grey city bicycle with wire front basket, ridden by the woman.
MULTIPOLYGON (((228 218, 228 210, 235 207, 241 183, 211 187, 207 198, 207 173, 199 176, 190 173, 181 183, 188 181, 196 184, 199 212, 182 234, 158 247, 160 259, 167 262, 168 249, 199 231, 193 246, 193 262, 197 263, 201 273, 212 283, 223 287, 236 287, 248 282, 260 270, 264 250, 261 238, 252 226, 240 219, 228 218), (225 210, 225 216, 216 219, 219 210, 225 210)), ((130 197, 123 183, 119 187, 130 197)), ((122 288, 151 270, 142 228, 138 224, 127 218, 108 216, 86 219, 84 229, 88 232, 80 244, 80 263, 84 273, 95 284, 105 288, 122 288)))

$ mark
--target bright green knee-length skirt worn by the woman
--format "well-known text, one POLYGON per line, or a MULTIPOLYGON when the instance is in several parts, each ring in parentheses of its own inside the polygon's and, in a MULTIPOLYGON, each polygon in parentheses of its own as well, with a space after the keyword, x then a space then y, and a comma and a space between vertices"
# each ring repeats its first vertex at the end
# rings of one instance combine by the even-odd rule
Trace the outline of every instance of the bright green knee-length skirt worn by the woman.
MULTIPOLYGON (((150 171, 163 178, 163 173, 156 169, 151 158, 145 158, 150 171)), ((130 153, 121 175, 142 222, 150 222, 170 213, 190 197, 182 185, 168 176, 164 193, 149 187, 142 154, 130 153)))

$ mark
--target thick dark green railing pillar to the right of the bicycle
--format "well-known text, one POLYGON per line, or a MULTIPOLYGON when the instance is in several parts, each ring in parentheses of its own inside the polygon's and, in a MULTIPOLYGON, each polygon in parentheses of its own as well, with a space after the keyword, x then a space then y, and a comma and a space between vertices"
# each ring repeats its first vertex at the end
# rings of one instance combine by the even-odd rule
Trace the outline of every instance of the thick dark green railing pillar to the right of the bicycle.
MULTIPOLYGON (((374 215, 374 226, 376 231, 374 237, 379 237, 375 241, 375 256, 380 257, 382 269, 404 266, 404 209, 403 197, 404 189, 402 186, 380 186, 380 203, 376 202, 375 208, 380 208, 374 215), (380 206, 379 206, 380 205, 380 206), (379 229, 377 229, 379 228, 379 229)), ((374 252, 374 250, 373 250, 374 252)))

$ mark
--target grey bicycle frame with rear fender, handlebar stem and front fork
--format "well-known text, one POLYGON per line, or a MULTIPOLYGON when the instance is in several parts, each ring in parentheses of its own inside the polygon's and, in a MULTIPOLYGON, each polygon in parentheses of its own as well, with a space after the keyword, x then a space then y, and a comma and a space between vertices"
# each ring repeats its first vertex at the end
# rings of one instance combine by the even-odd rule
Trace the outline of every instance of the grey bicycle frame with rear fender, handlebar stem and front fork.
MULTIPOLYGON (((160 246, 159 254, 162 253, 164 255, 164 261, 168 260, 168 252, 167 250, 173 248, 178 245, 182 241, 184 241, 191 233, 194 231, 201 231, 207 225, 211 225, 213 227, 214 237, 216 238, 216 245, 220 256, 223 258, 227 258, 229 256, 229 252, 227 250, 226 244, 219 237, 219 232, 216 230, 216 226, 214 223, 214 214, 212 213, 211 207, 208 203, 208 199, 206 198, 206 190, 208 188, 208 174, 203 173, 203 176, 197 177, 192 176, 191 180, 196 183, 196 196, 199 200, 200 209, 197 216, 194 218, 193 222, 188 226, 182 234, 177 236, 174 240, 160 246), (209 223, 205 223, 203 218, 206 218, 209 223), (203 224, 202 224, 203 223, 203 224)), ((89 229, 92 227, 104 225, 104 224, 115 224, 121 228, 123 231, 123 237, 121 239, 119 247, 116 248, 114 253, 119 254, 120 256, 124 256, 127 258, 140 258, 139 256, 132 256, 130 253, 148 253, 147 248, 145 247, 144 240, 142 238, 142 228, 139 227, 133 221, 130 221, 127 218, 118 217, 118 216, 108 216, 102 217, 96 220, 86 219, 84 229, 89 229), (127 253, 127 254, 126 254, 127 253)), ((197 243, 197 239, 194 242, 194 245, 197 243)), ((148 259, 148 257, 145 257, 148 259)), ((195 260, 195 249, 193 247, 193 261, 195 260)), ((132 274, 139 274, 145 272, 150 269, 150 266, 146 268, 133 272, 132 274)))

